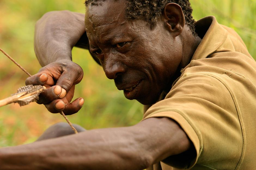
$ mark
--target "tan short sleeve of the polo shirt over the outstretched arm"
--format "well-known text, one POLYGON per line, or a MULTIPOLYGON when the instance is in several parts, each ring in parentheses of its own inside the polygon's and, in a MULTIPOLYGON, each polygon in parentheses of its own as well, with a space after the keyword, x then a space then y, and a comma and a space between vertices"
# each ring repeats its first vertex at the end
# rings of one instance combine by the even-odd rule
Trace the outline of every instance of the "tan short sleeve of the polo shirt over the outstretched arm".
POLYGON ((146 111, 143 120, 150 117, 175 120, 196 150, 196 157, 168 159, 167 165, 235 169, 239 162, 243 146, 239 117, 230 90, 218 76, 184 74, 164 100, 146 111))

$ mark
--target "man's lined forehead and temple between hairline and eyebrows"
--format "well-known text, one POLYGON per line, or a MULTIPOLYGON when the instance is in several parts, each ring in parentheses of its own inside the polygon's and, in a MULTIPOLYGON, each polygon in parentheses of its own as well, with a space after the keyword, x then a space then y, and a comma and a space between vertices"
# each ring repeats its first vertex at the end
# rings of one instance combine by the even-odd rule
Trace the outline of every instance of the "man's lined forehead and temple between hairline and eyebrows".
POLYGON ((115 44, 131 41, 150 34, 148 22, 142 19, 126 19, 125 0, 100 1, 99 5, 89 5, 85 15, 86 33, 90 44, 115 44))

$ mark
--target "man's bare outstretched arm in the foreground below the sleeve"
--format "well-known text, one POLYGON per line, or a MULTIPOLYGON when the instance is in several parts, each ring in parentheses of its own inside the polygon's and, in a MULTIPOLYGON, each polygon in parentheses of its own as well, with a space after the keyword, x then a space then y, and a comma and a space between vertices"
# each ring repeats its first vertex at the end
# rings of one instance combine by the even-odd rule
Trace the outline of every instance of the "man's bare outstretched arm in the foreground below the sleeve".
POLYGON ((0 149, 1 169, 145 169, 183 153, 190 140, 169 118, 0 149))

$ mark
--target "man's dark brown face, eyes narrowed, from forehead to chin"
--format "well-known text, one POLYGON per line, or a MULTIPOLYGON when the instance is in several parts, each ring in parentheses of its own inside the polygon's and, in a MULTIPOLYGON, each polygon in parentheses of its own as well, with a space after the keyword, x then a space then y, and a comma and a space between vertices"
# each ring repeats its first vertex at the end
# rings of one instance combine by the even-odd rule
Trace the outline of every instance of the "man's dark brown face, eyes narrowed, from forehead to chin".
POLYGON ((123 0, 100 3, 86 11, 90 51, 127 99, 154 104, 164 89, 170 89, 181 62, 180 40, 160 18, 154 29, 144 20, 127 20, 123 0))

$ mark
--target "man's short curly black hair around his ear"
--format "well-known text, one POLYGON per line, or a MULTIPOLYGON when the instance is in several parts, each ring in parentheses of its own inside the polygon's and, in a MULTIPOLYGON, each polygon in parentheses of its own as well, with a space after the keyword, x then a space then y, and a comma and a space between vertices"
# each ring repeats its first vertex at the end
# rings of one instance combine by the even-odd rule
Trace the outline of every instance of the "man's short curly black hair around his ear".
MULTIPOLYGON (((99 5, 98 1, 106 0, 85 0, 86 7, 90 5, 99 5)), ((129 0, 127 1, 126 18, 137 19, 143 18, 147 21, 151 28, 156 25, 157 17, 162 13, 165 5, 173 2, 178 4, 184 13, 186 24, 194 35, 195 31, 195 20, 192 17, 193 9, 190 6, 189 0, 129 0)))

